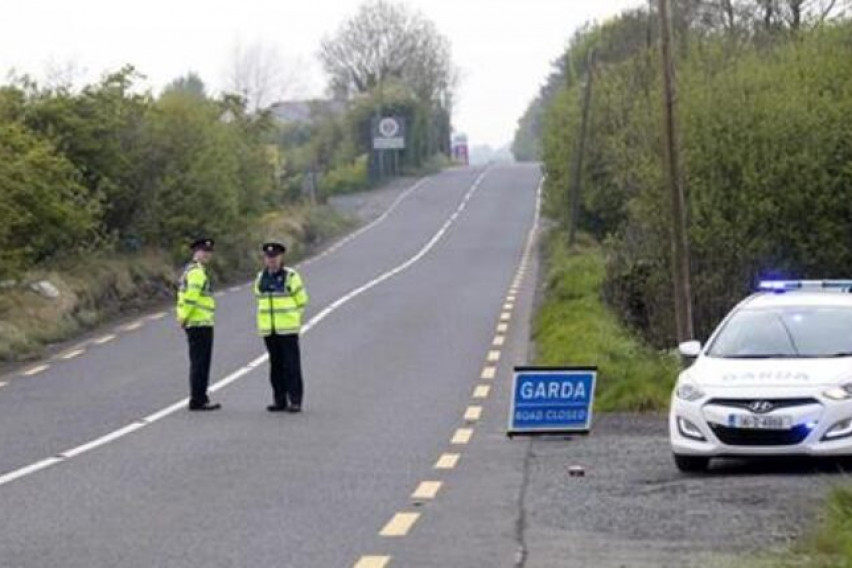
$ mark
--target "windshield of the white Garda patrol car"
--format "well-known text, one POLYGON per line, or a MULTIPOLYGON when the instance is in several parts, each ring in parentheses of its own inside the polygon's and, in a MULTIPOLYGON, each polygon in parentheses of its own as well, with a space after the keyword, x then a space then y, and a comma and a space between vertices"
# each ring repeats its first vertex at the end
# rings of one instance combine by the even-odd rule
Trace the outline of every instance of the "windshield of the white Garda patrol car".
POLYGON ((711 357, 852 357, 852 308, 779 307, 743 309, 711 345, 711 357))

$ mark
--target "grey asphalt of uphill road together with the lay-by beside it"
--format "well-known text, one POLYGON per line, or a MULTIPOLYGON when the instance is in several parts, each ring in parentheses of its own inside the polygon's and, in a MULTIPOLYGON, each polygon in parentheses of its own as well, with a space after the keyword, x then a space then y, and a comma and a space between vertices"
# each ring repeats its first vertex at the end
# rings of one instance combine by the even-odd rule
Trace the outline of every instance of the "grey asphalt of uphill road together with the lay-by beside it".
POLYGON ((505 437, 539 185, 497 166, 340 200, 371 221, 300 266, 302 415, 265 411, 245 285, 220 292, 219 412, 185 410, 166 312, 0 377, 0 567, 740 567, 806 533, 842 464, 685 476, 656 415, 505 437))

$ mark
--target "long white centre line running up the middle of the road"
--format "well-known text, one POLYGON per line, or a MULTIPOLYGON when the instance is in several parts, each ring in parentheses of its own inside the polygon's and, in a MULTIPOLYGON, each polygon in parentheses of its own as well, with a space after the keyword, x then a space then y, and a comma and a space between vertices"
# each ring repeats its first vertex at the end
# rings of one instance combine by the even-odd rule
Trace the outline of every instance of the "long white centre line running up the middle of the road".
MULTIPOLYGON (((470 199, 470 197, 472 197, 476 193, 476 191, 479 189, 480 185, 482 184, 482 181, 485 179, 485 177, 488 175, 488 173, 489 173, 489 169, 485 169, 476 178, 476 180, 473 182, 473 185, 471 185, 470 189, 468 189, 467 193, 465 194, 464 199, 470 199)), ((462 205, 464 205, 464 203, 465 203, 464 199, 458 205, 458 207, 456 208, 456 211, 458 211, 459 208, 461 208, 462 205)), ((429 252, 433 248, 435 248, 435 245, 437 245, 444 238, 444 236, 447 234, 447 231, 449 231, 449 229, 453 225, 453 223, 454 223, 454 220, 448 219, 441 226, 441 228, 438 229, 438 232, 435 233, 435 235, 429 240, 429 242, 427 242, 423 246, 423 248, 421 248, 420 251, 417 252, 417 254, 415 254, 414 256, 412 256, 411 258, 409 258, 408 260, 406 260, 402 264, 396 266, 395 268, 393 268, 393 269, 385 272, 384 274, 374 278, 373 280, 367 282, 366 284, 353 289, 352 291, 350 291, 349 293, 344 295, 342 298, 339 298, 338 300, 333 302, 331 305, 326 307, 320 313, 316 314, 313 318, 310 319, 310 321, 308 321, 303 326, 302 333, 308 333, 311 329, 316 327, 321 321, 323 321, 325 318, 327 318, 332 313, 337 311, 343 305, 351 302, 353 299, 360 296, 361 294, 364 294, 365 292, 375 288, 376 286, 378 286, 382 282, 385 282, 386 280, 389 280, 390 278, 393 278, 394 276, 397 276, 398 274, 408 270, 409 268, 411 268, 411 266, 413 266, 414 264, 416 264, 417 262, 422 260, 423 257, 425 257, 427 254, 429 254, 429 252)), ((121 329, 123 331, 132 331, 133 329, 138 329, 139 327, 141 327, 142 323, 143 322, 141 322, 141 321, 137 321, 137 322, 126 325, 126 326, 119 328, 119 329, 121 329)), ((234 371, 233 373, 231 373, 227 377, 221 379, 220 381, 217 381, 215 384, 213 384, 210 387, 210 391, 211 392, 217 392, 217 391, 225 388, 226 386, 230 385, 234 381, 240 379, 241 377, 247 375, 253 369, 255 369, 257 366, 263 364, 263 362, 266 361, 267 357, 268 357, 268 355, 266 355, 266 354, 264 354, 260 357, 257 357, 256 359, 251 361, 248 365, 245 365, 244 367, 237 369, 236 371, 234 371)), ((47 366, 45 365, 44 368, 47 368, 47 366)), ((34 369, 31 369, 30 371, 32 372, 32 374, 35 374, 36 372, 41 372, 42 370, 44 370, 44 369, 39 369, 38 367, 36 367, 34 369)), ((104 444, 107 444, 109 442, 113 442, 115 440, 123 438, 124 436, 126 436, 126 435, 128 435, 132 432, 135 432, 136 430, 139 430, 140 428, 143 428, 143 427, 145 427, 149 424, 153 424, 154 422, 157 422, 158 420, 162 420, 166 416, 169 416, 170 414, 177 412, 181 408, 184 408, 186 406, 186 404, 187 404, 186 399, 180 400, 180 401, 178 401, 178 402, 176 402, 176 403, 174 403, 174 404, 172 404, 172 405, 170 405, 170 406, 168 406, 168 407, 166 407, 166 408, 164 408, 164 409, 162 409, 158 412, 155 412, 155 413, 147 416, 146 418, 143 418, 140 421, 133 422, 132 424, 124 426, 123 428, 119 428, 118 430, 116 430, 114 432, 110 432, 109 434, 106 434, 105 436, 102 436, 102 437, 100 437, 96 440, 93 440, 91 442, 87 442, 85 444, 82 444, 81 446, 78 446, 78 447, 73 448, 71 450, 62 452, 60 454, 60 456, 65 456, 65 457, 50 458, 49 460, 43 460, 41 462, 38 462, 37 464, 34 464, 33 466, 25 466, 23 468, 11 471, 11 472, 3 475, 3 476, 0 476, 0 486, 5 485, 6 483, 9 483, 10 481, 14 481, 16 479, 19 479, 21 477, 25 477, 25 476, 27 476, 31 473, 34 473, 34 472, 39 471, 41 469, 44 469, 46 467, 50 467, 50 466, 55 465, 57 463, 61 463, 65 459, 78 456, 78 455, 83 454, 85 452, 88 452, 88 451, 90 451, 94 448, 98 448, 100 446, 103 446, 104 444), (39 464, 41 464, 41 465, 39 465, 39 464), (35 465, 39 465, 39 467, 36 467, 35 469, 30 469, 30 468, 33 468, 35 465)))

